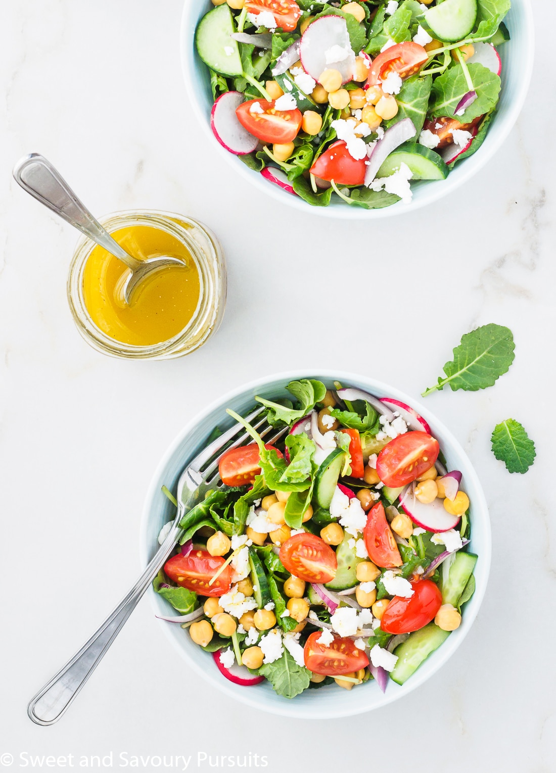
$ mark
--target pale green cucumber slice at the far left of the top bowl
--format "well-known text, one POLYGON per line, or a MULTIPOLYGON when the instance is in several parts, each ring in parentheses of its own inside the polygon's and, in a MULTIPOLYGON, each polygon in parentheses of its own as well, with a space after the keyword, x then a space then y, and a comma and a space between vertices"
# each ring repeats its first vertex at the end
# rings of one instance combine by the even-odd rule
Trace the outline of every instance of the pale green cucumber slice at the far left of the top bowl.
MULTIPOLYGON (((448 0, 446 0, 448 2, 448 0)), ((240 49, 230 35, 235 32, 230 6, 217 5, 200 20, 195 32, 199 56, 212 70, 223 75, 242 75, 240 49), (231 52, 231 53, 230 53, 231 52)))

